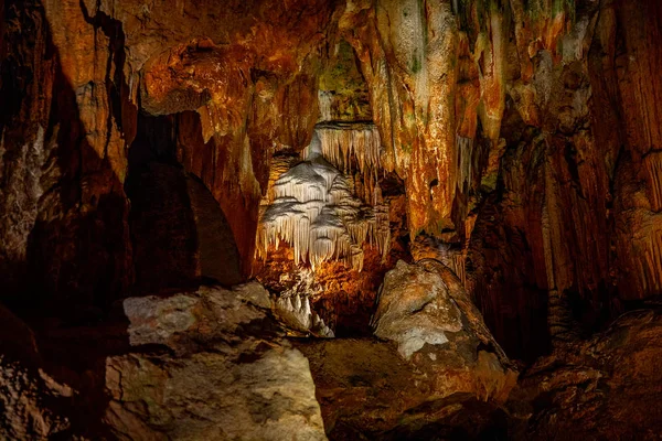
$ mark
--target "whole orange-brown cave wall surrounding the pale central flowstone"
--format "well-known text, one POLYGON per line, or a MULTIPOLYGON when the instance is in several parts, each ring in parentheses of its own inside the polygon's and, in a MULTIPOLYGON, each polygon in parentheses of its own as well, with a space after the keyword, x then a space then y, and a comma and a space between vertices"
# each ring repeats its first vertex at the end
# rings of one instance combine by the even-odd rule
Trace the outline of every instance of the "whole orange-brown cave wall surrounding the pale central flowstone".
POLYGON ((247 277, 271 155, 309 142, 348 44, 370 109, 364 89, 344 99, 380 129, 412 246, 452 262, 513 355, 662 291, 658 2, 8 0, 0 17, 3 298, 135 287, 146 116, 172 125, 169 161, 218 203, 247 277))

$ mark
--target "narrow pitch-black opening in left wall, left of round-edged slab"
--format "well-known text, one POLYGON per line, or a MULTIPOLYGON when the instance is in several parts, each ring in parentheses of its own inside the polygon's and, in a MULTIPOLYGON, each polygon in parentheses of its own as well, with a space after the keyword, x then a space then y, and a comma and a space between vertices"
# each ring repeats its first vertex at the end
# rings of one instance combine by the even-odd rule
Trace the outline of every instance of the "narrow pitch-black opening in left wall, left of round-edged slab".
POLYGON ((173 118, 138 115, 125 184, 136 292, 191 288, 197 281, 195 219, 173 133, 173 118))

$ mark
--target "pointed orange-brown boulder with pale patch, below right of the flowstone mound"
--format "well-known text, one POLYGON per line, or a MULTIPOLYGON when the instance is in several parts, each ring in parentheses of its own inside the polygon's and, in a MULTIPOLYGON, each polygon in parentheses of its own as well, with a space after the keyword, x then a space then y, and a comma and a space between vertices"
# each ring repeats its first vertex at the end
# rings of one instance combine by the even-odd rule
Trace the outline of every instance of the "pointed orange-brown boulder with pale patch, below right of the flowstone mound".
POLYGON ((516 373, 457 277, 442 263, 399 260, 386 273, 373 318, 375 336, 434 380, 435 396, 458 391, 503 401, 516 373))

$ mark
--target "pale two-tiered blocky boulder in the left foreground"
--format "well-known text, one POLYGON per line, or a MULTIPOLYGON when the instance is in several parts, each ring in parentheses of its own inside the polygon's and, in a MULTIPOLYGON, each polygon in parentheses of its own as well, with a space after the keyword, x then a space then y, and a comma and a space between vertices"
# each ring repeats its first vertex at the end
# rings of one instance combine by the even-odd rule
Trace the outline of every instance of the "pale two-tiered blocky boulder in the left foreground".
POLYGON ((324 440, 308 361, 278 337, 267 291, 125 300, 131 345, 164 345, 106 361, 105 422, 121 440, 324 440))

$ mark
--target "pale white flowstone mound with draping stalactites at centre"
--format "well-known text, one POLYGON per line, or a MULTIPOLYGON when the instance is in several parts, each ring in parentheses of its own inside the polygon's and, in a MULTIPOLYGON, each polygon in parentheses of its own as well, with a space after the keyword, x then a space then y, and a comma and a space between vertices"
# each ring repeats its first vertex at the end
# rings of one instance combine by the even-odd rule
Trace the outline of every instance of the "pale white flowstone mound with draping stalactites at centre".
POLYGON ((341 260, 363 269, 363 244, 388 252, 388 208, 371 207, 354 196, 353 184, 319 154, 312 153, 274 181, 273 198, 261 207, 257 252, 267 258, 280 241, 292 247, 295 263, 313 268, 327 260, 341 260))

